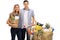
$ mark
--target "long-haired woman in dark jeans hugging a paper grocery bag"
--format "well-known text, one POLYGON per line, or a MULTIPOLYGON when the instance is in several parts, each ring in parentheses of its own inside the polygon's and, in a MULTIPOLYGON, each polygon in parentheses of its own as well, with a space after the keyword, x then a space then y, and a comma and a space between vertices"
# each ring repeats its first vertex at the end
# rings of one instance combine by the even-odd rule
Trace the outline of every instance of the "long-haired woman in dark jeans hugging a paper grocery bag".
POLYGON ((14 10, 10 13, 7 24, 11 27, 11 40, 15 40, 17 35, 18 40, 21 40, 21 29, 18 27, 19 15, 20 15, 20 6, 18 4, 14 5, 14 10))

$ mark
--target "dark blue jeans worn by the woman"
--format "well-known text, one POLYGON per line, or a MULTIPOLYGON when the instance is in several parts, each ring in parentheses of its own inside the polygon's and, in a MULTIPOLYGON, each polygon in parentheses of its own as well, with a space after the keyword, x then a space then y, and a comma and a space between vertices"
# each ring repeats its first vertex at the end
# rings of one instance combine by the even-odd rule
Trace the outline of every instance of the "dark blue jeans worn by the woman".
POLYGON ((21 28, 11 28, 11 40, 15 40, 16 35, 18 40, 22 40, 21 28))

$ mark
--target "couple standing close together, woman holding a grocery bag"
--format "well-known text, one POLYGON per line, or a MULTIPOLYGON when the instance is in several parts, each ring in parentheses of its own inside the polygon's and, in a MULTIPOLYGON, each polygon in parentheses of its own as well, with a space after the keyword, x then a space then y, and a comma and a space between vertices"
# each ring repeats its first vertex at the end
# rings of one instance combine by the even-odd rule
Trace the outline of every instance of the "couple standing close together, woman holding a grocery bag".
MULTIPOLYGON (((13 12, 10 13, 7 24, 11 27, 11 40, 15 40, 15 36, 17 35, 18 40, 25 39, 25 32, 27 32, 27 26, 34 25, 34 11, 29 9, 28 1, 23 2, 24 8, 20 10, 20 6, 18 4, 14 5, 13 12)), ((30 35, 27 32, 27 40, 30 40, 30 35)))

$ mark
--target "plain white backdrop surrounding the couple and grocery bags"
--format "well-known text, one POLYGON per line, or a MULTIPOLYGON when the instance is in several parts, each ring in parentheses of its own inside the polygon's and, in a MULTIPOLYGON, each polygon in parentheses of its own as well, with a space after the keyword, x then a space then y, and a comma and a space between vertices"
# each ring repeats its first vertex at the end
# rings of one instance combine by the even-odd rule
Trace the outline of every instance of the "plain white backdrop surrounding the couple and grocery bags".
MULTIPOLYGON (((38 22, 50 23, 54 27, 53 40, 60 39, 60 0, 29 0, 38 22)), ((11 40, 10 27, 6 24, 14 4, 23 8, 23 0, 0 0, 0 40, 11 40)))

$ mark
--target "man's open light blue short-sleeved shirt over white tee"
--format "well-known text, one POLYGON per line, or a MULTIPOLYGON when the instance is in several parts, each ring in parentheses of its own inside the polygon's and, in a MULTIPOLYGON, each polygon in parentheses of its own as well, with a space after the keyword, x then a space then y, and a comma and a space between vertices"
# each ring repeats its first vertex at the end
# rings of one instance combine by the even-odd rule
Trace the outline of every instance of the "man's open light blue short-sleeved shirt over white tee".
MULTIPOLYGON (((32 21, 31 18, 34 17, 34 11, 31 9, 28 9, 27 11, 28 11, 27 12, 28 25, 31 25, 31 21, 32 21)), ((19 23, 18 23, 19 28, 22 28, 24 26, 24 20, 25 20, 24 15, 26 15, 24 13, 25 13, 25 9, 21 9, 21 14, 19 16, 19 23)))

